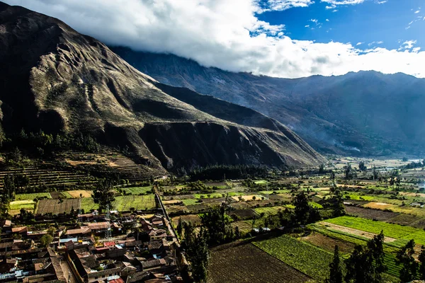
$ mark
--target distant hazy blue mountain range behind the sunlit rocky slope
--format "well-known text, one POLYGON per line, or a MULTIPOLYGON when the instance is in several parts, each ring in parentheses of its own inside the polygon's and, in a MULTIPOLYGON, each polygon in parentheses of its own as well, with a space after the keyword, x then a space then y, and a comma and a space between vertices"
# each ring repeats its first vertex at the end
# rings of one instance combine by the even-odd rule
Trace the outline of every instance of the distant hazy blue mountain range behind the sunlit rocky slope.
POLYGON ((262 112, 322 152, 387 155, 424 151, 425 79, 375 71, 280 79, 203 67, 174 54, 112 49, 162 83, 262 112))

